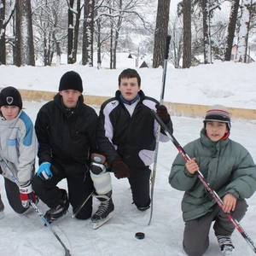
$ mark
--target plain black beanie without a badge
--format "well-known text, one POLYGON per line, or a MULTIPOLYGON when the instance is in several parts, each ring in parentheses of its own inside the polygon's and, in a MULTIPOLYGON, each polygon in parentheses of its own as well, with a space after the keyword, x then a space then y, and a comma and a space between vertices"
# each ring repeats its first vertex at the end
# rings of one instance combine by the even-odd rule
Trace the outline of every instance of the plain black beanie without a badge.
POLYGON ((78 90, 83 92, 83 82, 79 75, 74 71, 68 71, 61 77, 59 91, 60 90, 78 90))

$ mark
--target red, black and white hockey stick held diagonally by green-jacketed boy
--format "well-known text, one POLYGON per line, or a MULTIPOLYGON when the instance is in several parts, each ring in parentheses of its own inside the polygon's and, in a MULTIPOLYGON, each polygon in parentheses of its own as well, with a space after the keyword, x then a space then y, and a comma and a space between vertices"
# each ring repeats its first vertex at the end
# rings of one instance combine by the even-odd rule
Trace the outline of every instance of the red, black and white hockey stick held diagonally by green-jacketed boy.
MULTIPOLYGON (((168 129, 168 127, 164 124, 164 122, 160 119, 160 117, 157 115, 157 113, 154 112, 154 110, 151 111, 151 113, 154 116, 154 119, 159 123, 160 127, 165 131, 166 135, 170 138, 174 146, 177 148, 177 151, 183 156, 183 159, 185 161, 190 160, 189 155, 185 152, 185 150, 182 148, 182 146, 177 142, 176 138, 173 137, 172 132, 168 129)), ((218 206, 223 209, 224 203, 221 200, 221 198, 218 196, 218 194, 211 189, 210 184, 207 183, 207 180, 203 176, 203 174, 200 172, 200 170, 196 171, 198 173, 198 178, 201 180, 201 183, 203 183, 204 187, 207 189, 207 191, 212 195, 213 199, 218 203, 218 206)), ((241 224, 234 218, 230 212, 226 212, 227 217, 230 219, 232 224, 236 227, 236 230, 238 230, 241 234, 241 236, 247 241, 248 245, 253 249, 253 252, 256 253, 256 247, 253 243, 252 239, 247 235, 246 231, 242 229, 241 224)))

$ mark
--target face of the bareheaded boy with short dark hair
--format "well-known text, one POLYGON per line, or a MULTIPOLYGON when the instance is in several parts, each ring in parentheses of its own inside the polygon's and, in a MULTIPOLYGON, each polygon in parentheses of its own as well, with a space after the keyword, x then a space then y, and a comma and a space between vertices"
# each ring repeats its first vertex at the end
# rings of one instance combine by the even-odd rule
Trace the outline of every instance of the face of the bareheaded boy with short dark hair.
POLYGON ((119 90, 121 95, 125 98, 125 101, 131 102, 137 96, 137 93, 141 90, 141 88, 137 84, 137 78, 124 78, 121 79, 119 90))

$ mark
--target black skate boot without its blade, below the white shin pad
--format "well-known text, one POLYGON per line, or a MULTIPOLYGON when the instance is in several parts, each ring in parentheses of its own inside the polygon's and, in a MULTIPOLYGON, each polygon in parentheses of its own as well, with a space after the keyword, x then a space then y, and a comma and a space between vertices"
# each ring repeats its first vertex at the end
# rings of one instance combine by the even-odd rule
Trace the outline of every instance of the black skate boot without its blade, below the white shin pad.
POLYGON ((96 195, 99 201, 102 201, 98 210, 91 217, 93 223, 101 222, 103 219, 108 218, 108 215, 113 212, 114 206, 112 201, 112 191, 108 192, 107 195, 96 195), (111 193, 110 193, 111 192, 111 193))

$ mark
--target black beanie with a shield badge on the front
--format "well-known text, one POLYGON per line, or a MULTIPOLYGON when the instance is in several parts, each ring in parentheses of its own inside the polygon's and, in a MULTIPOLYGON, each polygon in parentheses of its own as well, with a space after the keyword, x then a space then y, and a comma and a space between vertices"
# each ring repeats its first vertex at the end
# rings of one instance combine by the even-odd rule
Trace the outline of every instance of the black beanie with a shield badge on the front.
POLYGON ((2 106, 17 106, 21 109, 22 99, 19 90, 12 86, 3 88, 0 93, 0 108, 2 106))

